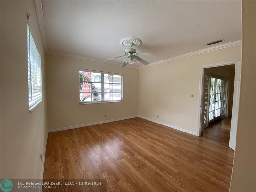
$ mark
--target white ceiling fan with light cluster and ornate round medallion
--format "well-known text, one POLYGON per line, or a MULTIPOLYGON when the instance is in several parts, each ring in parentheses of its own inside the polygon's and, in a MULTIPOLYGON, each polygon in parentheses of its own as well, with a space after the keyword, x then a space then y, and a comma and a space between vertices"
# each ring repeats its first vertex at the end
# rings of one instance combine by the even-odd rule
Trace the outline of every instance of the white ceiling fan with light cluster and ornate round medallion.
POLYGON ((139 56, 146 56, 146 57, 154 57, 155 55, 152 53, 137 53, 136 49, 134 49, 133 47, 137 47, 141 44, 141 40, 135 37, 126 37, 124 39, 122 39, 120 41, 120 43, 124 46, 124 47, 129 47, 127 49, 125 49, 124 51, 120 51, 120 52, 124 52, 123 55, 118 56, 118 57, 114 57, 114 58, 110 58, 110 59, 106 59, 105 61, 111 60, 111 59, 116 59, 119 57, 125 57, 124 58, 124 63, 122 65, 122 67, 125 67, 127 64, 133 64, 136 61, 141 62, 144 65, 148 65, 149 62, 140 58, 139 56))

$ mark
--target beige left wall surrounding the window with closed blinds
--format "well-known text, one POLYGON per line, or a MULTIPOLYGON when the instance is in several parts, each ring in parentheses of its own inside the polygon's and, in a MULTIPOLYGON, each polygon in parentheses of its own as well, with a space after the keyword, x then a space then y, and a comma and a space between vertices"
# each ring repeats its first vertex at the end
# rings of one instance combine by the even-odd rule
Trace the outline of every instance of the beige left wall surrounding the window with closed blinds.
POLYGON ((1 1, 1 178, 40 179, 46 122, 45 54, 33 1, 1 1), (42 59, 43 102, 29 113, 27 12, 42 59))

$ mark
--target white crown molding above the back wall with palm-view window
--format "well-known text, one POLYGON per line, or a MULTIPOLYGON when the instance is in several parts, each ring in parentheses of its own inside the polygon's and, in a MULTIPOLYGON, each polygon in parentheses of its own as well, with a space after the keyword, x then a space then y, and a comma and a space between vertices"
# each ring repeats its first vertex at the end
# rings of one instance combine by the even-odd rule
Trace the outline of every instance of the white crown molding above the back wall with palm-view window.
MULTIPOLYGON (((111 65, 116 65, 116 66, 122 67, 122 64, 114 63, 114 62, 110 62, 110 61, 104 61, 104 60, 100 60, 100 59, 93 59, 93 58, 89 58, 89 57, 83 57, 83 56, 72 55, 72 54, 61 53, 61 52, 53 52, 53 51, 47 51, 46 53, 50 54, 50 55, 58 55, 58 56, 69 57, 69 58, 74 58, 74 59, 82 59, 82 60, 87 60, 87 61, 107 63, 107 64, 111 64, 111 65)), ((128 68, 135 68, 135 69, 139 68, 139 67, 135 67, 135 66, 131 66, 131 65, 130 66, 126 66, 126 67, 128 67, 128 68)))

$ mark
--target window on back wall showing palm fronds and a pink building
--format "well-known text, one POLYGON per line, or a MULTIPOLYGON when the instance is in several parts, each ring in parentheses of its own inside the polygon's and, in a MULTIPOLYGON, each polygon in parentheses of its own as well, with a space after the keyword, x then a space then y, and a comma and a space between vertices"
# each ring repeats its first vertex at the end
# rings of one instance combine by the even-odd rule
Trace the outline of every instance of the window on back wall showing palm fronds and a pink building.
POLYGON ((80 103, 123 101, 123 75, 79 69, 80 103))

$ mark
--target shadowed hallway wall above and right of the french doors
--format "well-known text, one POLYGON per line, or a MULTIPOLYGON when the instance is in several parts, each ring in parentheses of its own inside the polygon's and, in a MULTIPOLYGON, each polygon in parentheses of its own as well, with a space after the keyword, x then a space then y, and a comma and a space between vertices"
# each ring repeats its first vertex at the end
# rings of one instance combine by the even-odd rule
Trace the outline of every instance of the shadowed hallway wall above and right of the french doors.
MULTIPOLYGON (((235 65, 205 68, 205 73, 210 72, 220 76, 228 77, 228 116, 232 116, 232 104, 234 93, 235 65)), ((204 97, 203 97, 204 98, 204 97)))

